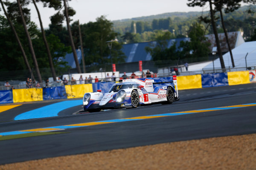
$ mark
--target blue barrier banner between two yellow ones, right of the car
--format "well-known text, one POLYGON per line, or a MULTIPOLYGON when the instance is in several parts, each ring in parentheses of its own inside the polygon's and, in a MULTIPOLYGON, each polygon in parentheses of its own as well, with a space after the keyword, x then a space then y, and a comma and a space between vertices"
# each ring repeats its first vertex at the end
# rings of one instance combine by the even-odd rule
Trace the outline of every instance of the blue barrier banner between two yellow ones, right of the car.
POLYGON ((228 85, 227 73, 201 74, 202 87, 217 87, 228 85))

